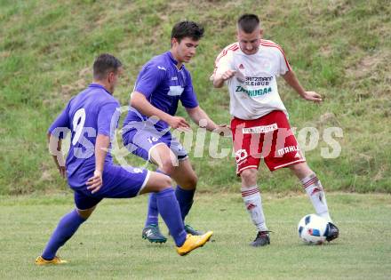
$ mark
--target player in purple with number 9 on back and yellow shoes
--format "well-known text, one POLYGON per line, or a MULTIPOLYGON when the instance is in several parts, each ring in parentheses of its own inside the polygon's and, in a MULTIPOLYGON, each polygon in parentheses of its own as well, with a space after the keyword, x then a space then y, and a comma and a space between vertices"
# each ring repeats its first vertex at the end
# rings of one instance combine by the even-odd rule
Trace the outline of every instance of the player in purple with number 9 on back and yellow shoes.
POLYGON ((93 64, 93 83, 69 100, 49 128, 50 151, 60 175, 68 178, 68 185, 74 190, 76 208, 61 218, 44 252, 36 259, 37 265, 66 262, 56 256, 56 252, 90 217, 103 198, 156 193, 159 211, 180 255, 202 246, 212 235, 211 231, 203 236, 191 236, 185 232, 170 177, 113 164, 108 148, 118 124, 116 108, 119 103, 112 94, 122 71, 120 60, 110 54, 101 54, 93 64), (68 130, 71 131, 71 145, 64 164, 61 139, 68 130))

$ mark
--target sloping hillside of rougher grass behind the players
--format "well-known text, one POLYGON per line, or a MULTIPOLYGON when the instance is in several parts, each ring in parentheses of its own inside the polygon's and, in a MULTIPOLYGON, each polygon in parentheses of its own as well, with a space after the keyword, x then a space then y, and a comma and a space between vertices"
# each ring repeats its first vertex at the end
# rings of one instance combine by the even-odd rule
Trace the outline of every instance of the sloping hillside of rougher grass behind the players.
MULTIPOLYGON (((235 20, 243 12, 259 14, 265 37, 283 46, 301 83, 325 96, 316 106, 299 100, 280 81, 292 126, 298 131, 314 126, 321 136, 327 127, 343 130, 343 138, 336 139, 339 157, 321 156, 321 148, 328 147, 322 137, 306 153, 325 188, 391 192, 391 9, 386 0, 0 0, 0 195, 67 188, 45 145, 52 119, 91 82, 92 61, 100 52, 111 52, 125 64, 127 76, 116 91, 125 105, 140 67, 169 48, 178 20, 206 27, 188 68, 201 106, 227 123, 227 89, 214 90, 208 78, 220 49, 235 41, 235 20)), ((208 147, 202 158, 193 158, 200 188, 237 189, 234 159, 212 159, 208 147)), ((229 140, 220 140, 219 148, 229 147, 229 140)), ((142 164, 135 156, 127 161, 142 164)), ((261 188, 298 189, 288 174, 262 167, 261 188)))

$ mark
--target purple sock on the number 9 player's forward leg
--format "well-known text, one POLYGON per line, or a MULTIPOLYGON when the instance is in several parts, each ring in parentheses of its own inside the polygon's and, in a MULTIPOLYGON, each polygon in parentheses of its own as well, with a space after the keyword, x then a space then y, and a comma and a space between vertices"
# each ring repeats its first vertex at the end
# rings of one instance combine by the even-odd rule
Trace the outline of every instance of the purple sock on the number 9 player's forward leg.
POLYGON ((174 195, 172 188, 165 188, 156 193, 157 207, 162 215, 162 218, 170 230, 175 244, 180 247, 186 241, 186 232, 183 221, 180 217, 180 205, 174 195))

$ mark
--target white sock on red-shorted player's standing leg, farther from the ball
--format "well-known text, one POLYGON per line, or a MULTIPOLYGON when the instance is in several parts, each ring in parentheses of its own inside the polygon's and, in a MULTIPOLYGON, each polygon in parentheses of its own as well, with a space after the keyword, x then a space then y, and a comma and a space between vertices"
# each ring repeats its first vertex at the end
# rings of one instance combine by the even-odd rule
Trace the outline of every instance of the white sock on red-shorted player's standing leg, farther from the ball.
POLYGON ((247 212, 250 214, 252 223, 257 227, 258 231, 267 230, 258 186, 255 185, 249 188, 242 187, 241 190, 243 202, 247 212))

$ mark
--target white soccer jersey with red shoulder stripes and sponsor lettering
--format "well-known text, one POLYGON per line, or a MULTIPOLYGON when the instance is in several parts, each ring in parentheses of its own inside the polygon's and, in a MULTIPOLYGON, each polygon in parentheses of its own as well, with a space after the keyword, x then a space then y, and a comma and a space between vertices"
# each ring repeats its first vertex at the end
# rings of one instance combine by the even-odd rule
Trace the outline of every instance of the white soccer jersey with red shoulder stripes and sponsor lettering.
POLYGON ((261 40, 259 51, 252 55, 243 53, 239 43, 230 44, 219 53, 213 75, 228 69, 236 71, 227 80, 232 116, 253 120, 275 110, 288 116, 278 94, 276 76, 290 71, 291 66, 278 44, 261 40))

